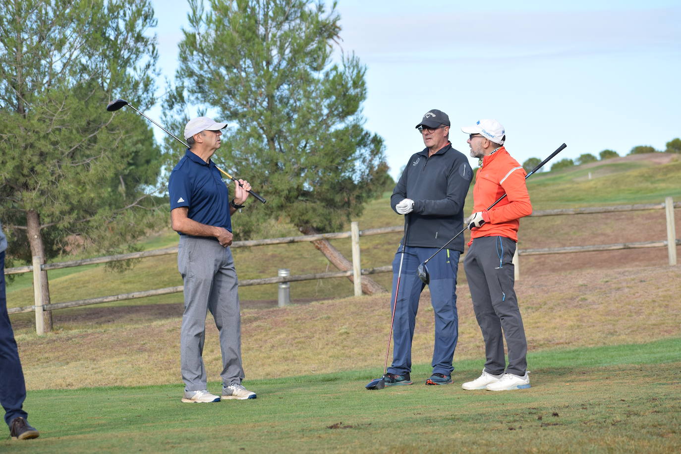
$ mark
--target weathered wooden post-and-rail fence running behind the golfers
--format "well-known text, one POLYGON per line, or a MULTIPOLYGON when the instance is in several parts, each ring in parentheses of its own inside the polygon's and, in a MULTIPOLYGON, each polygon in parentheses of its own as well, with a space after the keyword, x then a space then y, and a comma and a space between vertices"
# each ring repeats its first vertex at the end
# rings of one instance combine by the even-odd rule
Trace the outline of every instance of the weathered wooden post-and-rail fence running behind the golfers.
MULTIPOLYGON (((518 257, 522 255, 545 255, 545 254, 564 254, 564 253, 580 253, 593 252, 602 250, 618 250, 618 249, 633 249, 633 248, 656 248, 667 246, 667 253, 669 256, 669 265, 676 265, 676 246, 681 244, 681 240, 676 239, 676 227, 674 225, 674 208, 681 208, 681 203, 676 202, 667 197, 663 204, 637 204, 637 205, 620 205, 620 206, 606 206, 606 207, 589 207, 589 208, 572 208, 566 210, 542 210, 533 212, 531 216, 566 216, 573 214, 593 214, 593 213, 608 213, 608 212, 625 212, 625 211, 639 211, 639 210, 665 210, 667 220, 667 240, 654 240, 645 242, 629 242, 617 244, 597 244, 592 246, 569 246, 562 248, 537 248, 537 249, 523 249, 516 250, 516 257, 513 261, 516 264, 516 280, 520 279, 520 266, 518 257)), ((360 230, 357 222, 351 223, 351 231, 334 232, 334 233, 319 233, 317 235, 293 236, 285 238, 268 238, 264 240, 249 240, 236 241, 232 243, 232 248, 253 247, 253 246, 267 246, 271 244, 287 244, 298 242, 311 242, 316 240, 336 240, 339 238, 351 238, 352 241, 352 270, 324 272, 315 274, 301 274, 298 276, 276 276, 272 278, 259 278, 240 280, 240 287, 248 287, 250 285, 266 285, 276 284, 280 282, 297 282, 302 280, 317 280, 353 276, 354 294, 355 296, 362 295, 361 276, 368 274, 392 272, 391 265, 385 265, 374 268, 362 268, 360 261, 360 237, 370 235, 383 235, 385 233, 399 233, 403 231, 401 225, 393 227, 381 227, 379 229, 360 230)), ((56 310, 65 308, 75 308, 79 306, 88 306, 90 304, 101 304, 108 302, 123 301, 125 299, 143 298, 157 295, 168 295, 170 293, 178 293, 183 291, 183 286, 167 287, 165 289, 155 289, 146 291, 136 291, 132 293, 123 293, 121 295, 110 295, 89 299, 79 299, 77 301, 43 304, 41 270, 58 270, 59 268, 67 268, 82 265, 92 265, 95 263, 108 263, 112 261, 122 261, 130 259, 140 259, 144 257, 158 257, 160 255, 176 254, 178 252, 177 246, 171 248, 163 248, 156 250, 146 250, 139 253, 110 255, 107 257, 95 257, 93 259, 82 259, 74 261, 64 261, 59 263, 45 263, 41 265, 42 257, 33 257, 33 265, 22 267, 7 268, 5 274, 21 274, 33 272, 33 306, 24 306, 18 308, 10 308, 7 310, 10 314, 20 312, 35 311, 35 331, 37 334, 44 334, 46 331, 44 326, 43 312, 45 310, 56 310)), ((48 330, 51 327, 48 327, 48 330)))

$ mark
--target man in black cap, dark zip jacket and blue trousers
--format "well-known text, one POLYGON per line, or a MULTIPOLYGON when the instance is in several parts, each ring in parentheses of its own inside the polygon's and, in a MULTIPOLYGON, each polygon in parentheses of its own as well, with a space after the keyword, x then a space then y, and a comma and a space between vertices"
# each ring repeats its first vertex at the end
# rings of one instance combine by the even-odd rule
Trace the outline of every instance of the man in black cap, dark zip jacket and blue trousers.
MULTIPOLYGON (((393 360, 385 374, 385 385, 411 385, 411 342, 414 336, 419 297, 425 285, 416 270, 437 248, 462 229, 463 208, 473 178, 468 159, 449 142, 449 117, 440 110, 426 112, 416 125, 426 148, 411 155, 390 197, 390 205, 405 215, 407 236, 402 238, 392 262, 392 299, 394 308, 393 360), (404 250, 402 250, 404 245, 404 250), (400 259, 402 274, 397 299, 395 290, 400 259)), ((452 360, 458 340, 456 274, 463 238, 429 262, 430 304, 435 317, 432 375, 426 385, 452 383, 452 360)), ((391 308, 393 309, 393 308, 391 308)))

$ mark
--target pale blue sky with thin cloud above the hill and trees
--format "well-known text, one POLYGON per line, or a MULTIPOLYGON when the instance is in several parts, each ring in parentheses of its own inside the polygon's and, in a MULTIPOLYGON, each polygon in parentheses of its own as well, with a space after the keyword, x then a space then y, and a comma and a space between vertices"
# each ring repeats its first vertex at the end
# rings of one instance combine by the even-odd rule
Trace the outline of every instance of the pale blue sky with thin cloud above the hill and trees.
MULTIPOLYGON (((163 97, 189 6, 151 3, 163 97)), ((665 150, 681 137, 678 0, 338 0, 336 10, 340 47, 366 65, 365 127, 383 137, 393 178, 424 148, 415 125, 431 109, 448 114, 449 140, 466 156, 460 128, 495 118, 520 163, 564 142, 556 160, 665 150)))

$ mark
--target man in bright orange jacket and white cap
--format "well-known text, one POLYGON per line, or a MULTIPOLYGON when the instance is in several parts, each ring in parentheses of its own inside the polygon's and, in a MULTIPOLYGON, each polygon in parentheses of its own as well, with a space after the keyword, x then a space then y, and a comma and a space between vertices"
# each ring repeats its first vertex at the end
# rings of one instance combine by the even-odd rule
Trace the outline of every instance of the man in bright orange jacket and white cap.
POLYGON ((485 341, 485 367, 481 376, 463 389, 506 391, 530 387, 527 371, 527 341, 513 290, 513 253, 518 242, 519 219, 532 214, 530 195, 522 165, 503 144, 505 130, 496 120, 479 120, 462 127, 469 134, 471 157, 480 167, 473 186, 473 214, 466 218, 471 242, 464 271, 471 290, 475 318, 485 341), (491 210, 499 197, 507 197, 491 210), (509 362, 504 357, 504 340, 509 362))

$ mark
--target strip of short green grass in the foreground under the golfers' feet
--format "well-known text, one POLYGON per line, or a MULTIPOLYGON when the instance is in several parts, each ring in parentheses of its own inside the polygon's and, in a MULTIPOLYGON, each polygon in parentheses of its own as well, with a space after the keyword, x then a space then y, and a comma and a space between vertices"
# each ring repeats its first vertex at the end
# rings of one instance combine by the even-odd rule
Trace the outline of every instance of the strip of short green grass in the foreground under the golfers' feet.
MULTIPOLYGON (((530 353, 532 388, 463 391, 482 361, 455 361, 455 384, 367 391, 376 370, 253 380, 257 400, 181 404, 181 385, 31 391, 40 438, 13 452, 678 452, 681 339, 530 353)), ((211 383, 218 389, 219 383, 211 383)))

